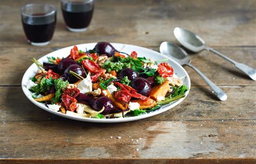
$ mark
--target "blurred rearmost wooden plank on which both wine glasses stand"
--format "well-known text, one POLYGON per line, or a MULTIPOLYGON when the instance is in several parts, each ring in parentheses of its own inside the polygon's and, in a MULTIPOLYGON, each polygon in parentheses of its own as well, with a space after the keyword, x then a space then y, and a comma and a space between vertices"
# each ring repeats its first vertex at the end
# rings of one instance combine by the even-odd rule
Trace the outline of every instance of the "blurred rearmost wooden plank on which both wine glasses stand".
MULTIPOLYGON (((33 1, 37 2, 41 1, 33 1)), ((0 46, 30 46, 18 16, 19 8, 27 3, 31 1, 0 2, 0 19, 4 20, 0 23, 0 46)), ((49 46, 100 40, 156 46, 174 41, 176 26, 200 34, 211 46, 256 45, 256 1, 96 1, 90 28, 84 33, 65 29, 59 1, 44 3, 58 8, 57 28, 49 46)))

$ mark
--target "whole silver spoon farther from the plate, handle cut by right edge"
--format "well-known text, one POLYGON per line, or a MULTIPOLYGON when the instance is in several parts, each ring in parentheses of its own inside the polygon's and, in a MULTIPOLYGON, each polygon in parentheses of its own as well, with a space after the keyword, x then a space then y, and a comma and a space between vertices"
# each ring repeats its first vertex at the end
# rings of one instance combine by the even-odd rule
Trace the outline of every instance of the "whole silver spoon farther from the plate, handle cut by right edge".
POLYGON ((186 47, 188 50, 193 52, 199 52, 202 50, 212 51, 215 54, 218 54, 218 56, 226 59, 227 61, 230 61, 230 63, 234 64, 237 69, 247 74, 251 79, 256 80, 256 70, 246 64, 238 63, 237 61, 232 60, 231 58, 212 49, 211 47, 207 47, 205 41, 195 33, 182 28, 175 28, 173 33, 179 43, 186 47))

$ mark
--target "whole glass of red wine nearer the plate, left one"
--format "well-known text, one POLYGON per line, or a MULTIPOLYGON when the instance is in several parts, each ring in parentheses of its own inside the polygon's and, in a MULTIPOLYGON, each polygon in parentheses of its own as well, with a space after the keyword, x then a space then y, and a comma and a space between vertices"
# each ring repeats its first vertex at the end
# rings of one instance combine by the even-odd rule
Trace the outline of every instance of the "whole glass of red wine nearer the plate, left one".
POLYGON ((22 25, 32 45, 49 44, 56 26, 57 10, 50 4, 27 4, 21 8, 22 25))

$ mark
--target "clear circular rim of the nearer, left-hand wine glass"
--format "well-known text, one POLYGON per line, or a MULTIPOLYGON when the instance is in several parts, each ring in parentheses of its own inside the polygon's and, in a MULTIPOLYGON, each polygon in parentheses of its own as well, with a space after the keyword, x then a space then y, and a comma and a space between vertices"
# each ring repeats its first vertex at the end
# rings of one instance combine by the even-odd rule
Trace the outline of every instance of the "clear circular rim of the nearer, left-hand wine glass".
POLYGON ((24 5, 21 8, 21 14, 23 16, 27 16, 27 17, 45 17, 45 16, 53 15, 56 12, 57 12, 57 9, 52 4, 29 3, 29 4, 24 5), (52 8, 52 11, 49 11, 49 12, 45 13, 44 15, 31 15, 31 14, 24 13, 24 9, 28 8, 29 6, 50 6, 52 8))

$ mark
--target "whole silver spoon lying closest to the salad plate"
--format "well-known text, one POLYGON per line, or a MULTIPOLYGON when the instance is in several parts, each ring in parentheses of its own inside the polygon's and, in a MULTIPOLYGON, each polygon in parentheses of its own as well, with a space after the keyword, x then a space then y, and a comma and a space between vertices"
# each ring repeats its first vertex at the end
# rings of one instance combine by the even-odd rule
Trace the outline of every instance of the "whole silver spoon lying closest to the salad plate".
POLYGON ((176 44, 170 42, 163 42, 160 45, 160 52, 170 56, 173 60, 177 61, 180 65, 187 65, 194 69, 201 78, 205 81, 205 83, 210 86, 212 92, 217 95, 218 99, 224 101, 227 99, 227 95, 223 90, 221 90, 217 85, 215 85, 210 79, 208 79, 201 71, 197 69, 197 67, 190 64, 190 57, 176 44))

